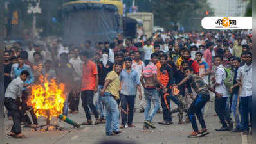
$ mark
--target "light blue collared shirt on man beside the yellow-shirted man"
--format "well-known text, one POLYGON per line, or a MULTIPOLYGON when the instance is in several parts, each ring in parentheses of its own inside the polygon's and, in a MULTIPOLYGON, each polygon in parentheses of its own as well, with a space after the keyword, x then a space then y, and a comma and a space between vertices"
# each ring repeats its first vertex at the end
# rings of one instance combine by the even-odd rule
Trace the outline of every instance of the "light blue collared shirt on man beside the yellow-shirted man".
POLYGON ((127 72, 126 68, 120 73, 120 82, 122 86, 121 93, 123 95, 136 95, 136 88, 140 85, 140 78, 135 70, 127 72))

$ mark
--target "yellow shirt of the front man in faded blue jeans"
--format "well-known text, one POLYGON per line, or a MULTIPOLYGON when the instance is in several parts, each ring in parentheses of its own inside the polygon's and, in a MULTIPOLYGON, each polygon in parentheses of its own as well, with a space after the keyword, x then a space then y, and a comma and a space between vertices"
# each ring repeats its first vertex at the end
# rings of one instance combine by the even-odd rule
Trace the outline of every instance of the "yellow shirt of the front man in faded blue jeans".
POLYGON ((107 86, 105 92, 111 93, 111 95, 116 97, 115 99, 119 99, 120 80, 118 74, 116 74, 114 71, 111 71, 109 74, 107 74, 107 77, 105 77, 105 80, 107 79, 111 80, 111 82, 107 86))

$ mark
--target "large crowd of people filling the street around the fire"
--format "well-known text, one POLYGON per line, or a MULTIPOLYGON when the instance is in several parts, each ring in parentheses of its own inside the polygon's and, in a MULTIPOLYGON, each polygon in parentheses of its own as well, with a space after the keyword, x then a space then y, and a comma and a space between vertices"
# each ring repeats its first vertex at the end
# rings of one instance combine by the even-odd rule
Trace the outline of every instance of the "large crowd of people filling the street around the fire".
POLYGON ((105 123, 107 136, 136 127, 135 111, 145 115, 143 129, 156 128, 156 113, 163 115, 161 125, 174 124, 172 115, 178 113, 178 124, 192 124, 188 137, 205 136, 209 132, 204 107, 210 95, 215 97, 211 110, 222 124, 216 131, 252 134, 251 50, 247 30, 158 32, 151 38, 114 38, 95 45, 87 40, 67 46, 60 38, 27 45, 6 41, 5 107, 14 122, 10 136, 27 138, 21 125, 38 125, 33 110, 33 122, 24 113, 30 109, 30 88, 40 83, 40 76, 65 85, 63 115, 79 113, 81 97, 86 113, 82 125, 105 123), (170 100, 177 109, 171 108, 170 100))

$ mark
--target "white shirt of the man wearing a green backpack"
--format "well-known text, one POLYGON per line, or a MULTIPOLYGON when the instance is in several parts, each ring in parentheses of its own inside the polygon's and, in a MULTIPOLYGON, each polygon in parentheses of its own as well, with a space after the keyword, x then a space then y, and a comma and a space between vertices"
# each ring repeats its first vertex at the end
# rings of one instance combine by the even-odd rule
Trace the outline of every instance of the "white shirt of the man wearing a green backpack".
POLYGON ((226 86, 224 84, 224 79, 226 79, 226 71, 224 70, 223 65, 219 65, 219 67, 217 67, 215 77, 216 83, 220 84, 219 86, 216 86, 216 92, 223 94, 223 97, 228 97, 228 90, 226 90, 226 86))

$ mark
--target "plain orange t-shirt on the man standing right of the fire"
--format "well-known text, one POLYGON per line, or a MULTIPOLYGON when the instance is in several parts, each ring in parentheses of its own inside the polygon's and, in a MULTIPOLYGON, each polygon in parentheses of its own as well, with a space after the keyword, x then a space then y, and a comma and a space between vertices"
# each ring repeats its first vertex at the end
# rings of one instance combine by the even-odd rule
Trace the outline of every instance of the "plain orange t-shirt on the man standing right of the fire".
POLYGON ((95 90, 97 74, 98 70, 93 61, 89 60, 87 64, 83 64, 82 91, 95 90))

